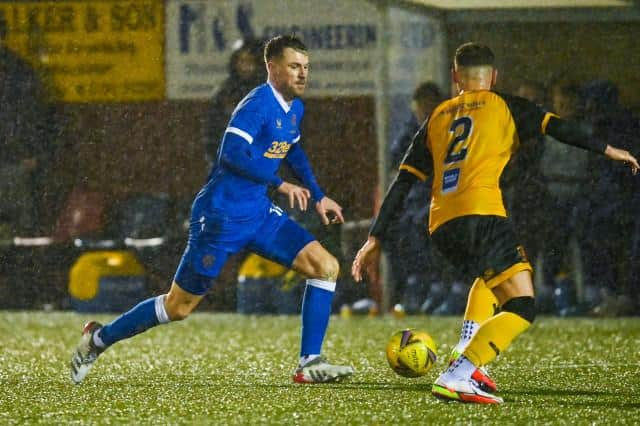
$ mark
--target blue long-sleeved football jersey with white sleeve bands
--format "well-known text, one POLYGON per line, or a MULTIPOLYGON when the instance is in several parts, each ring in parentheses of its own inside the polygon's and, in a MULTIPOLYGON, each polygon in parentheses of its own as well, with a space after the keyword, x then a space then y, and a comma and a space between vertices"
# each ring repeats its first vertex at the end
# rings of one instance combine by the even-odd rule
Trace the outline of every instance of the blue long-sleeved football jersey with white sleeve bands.
POLYGON ((268 186, 279 186, 280 163, 300 140, 302 101, 291 105, 265 83, 236 107, 216 162, 194 207, 229 218, 264 215, 271 205, 268 186))

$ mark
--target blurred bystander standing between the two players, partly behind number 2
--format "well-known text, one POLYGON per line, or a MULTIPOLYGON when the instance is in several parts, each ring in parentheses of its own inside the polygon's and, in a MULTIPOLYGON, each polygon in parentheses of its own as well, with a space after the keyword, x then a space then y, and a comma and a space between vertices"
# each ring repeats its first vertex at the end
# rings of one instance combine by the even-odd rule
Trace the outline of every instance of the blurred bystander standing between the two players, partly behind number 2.
MULTIPOLYGON (((420 125, 429 117, 431 111, 444 100, 440 88, 433 82, 420 84, 413 92, 412 114, 406 121, 400 135, 389 148, 391 165, 397 170, 405 151, 420 125)), ((394 282, 392 305, 401 303, 407 313, 420 310, 429 293, 432 283, 440 289, 441 272, 448 266, 436 262, 432 252, 426 224, 431 198, 431 181, 417 182, 409 192, 403 209, 389 228, 390 237, 385 250, 393 253, 389 256, 391 276, 394 282), (438 283, 438 284, 435 284, 438 283)), ((447 289, 448 290, 448 289, 447 289)), ((437 309, 446 298, 447 291, 439 291, 437 300, 431 300, 430 310, 437 309)), ((464 306, 462 306, 464 308, 464 306)))

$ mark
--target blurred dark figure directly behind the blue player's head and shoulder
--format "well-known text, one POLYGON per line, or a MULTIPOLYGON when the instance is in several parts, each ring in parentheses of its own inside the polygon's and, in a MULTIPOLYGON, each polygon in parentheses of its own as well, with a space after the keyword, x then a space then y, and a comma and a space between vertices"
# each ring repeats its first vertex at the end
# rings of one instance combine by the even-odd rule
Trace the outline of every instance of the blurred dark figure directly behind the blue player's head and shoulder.
POLYGON ((205 118, 205 158, 211 166, 231 113, 254 87, 267 80, 264 43, 254 39, 238 40, 229 59, 229 76, 214 95, 205 118))

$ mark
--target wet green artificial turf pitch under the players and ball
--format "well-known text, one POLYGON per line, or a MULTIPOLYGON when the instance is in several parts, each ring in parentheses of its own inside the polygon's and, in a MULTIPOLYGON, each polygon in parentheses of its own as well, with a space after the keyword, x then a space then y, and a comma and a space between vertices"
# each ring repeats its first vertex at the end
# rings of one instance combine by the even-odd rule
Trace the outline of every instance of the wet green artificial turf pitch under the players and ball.
MULTIPOLYGON (((107 321, 111 316, 98 316, 107 321)), ((640 422, 640 320, 536 321, 491 365, 501 406, 443 403, 431 382, 459 318, 332 318, 324 345, 348 382, 295 385, 298 317, 195 314, 105 352, 85 381, 67 368, 74 313, 0 312, 0 424, 634 424, 640 422), (405 379, 387 366, 396 330, 428 331, 438 362, 405 379)))

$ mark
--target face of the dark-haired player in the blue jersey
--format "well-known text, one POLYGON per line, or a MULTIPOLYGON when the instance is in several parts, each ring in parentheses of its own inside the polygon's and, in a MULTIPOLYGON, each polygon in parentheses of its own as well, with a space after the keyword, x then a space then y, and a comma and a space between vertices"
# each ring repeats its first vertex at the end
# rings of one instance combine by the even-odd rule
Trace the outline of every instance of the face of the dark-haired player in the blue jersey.
POLYGON ((287 47, 280 58, 269 62, 269 75, 286 100, 302 96, 309 76, 309 56, 287 47))

